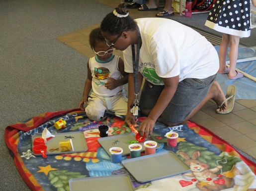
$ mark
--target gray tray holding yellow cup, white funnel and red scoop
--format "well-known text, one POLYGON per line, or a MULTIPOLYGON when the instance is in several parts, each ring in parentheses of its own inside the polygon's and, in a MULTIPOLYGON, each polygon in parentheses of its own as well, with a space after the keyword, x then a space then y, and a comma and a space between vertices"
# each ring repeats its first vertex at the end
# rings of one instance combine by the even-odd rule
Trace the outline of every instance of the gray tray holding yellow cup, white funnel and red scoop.
MULTIPOLYGON (((47 146, 46 155, 85 152, 88 150, 87 143, 85 141, 85 135, 83 132, 56 133, 53 135, 55 135, 55 137, 45 143, 45 145, 47 146), (70 138, 72 139, 74 151, 61 152, 58 149, 59 142, 69 141, 70 138)), ((42 134, 36 134, 32 136, 32 147, 34 139, 39 137, 42 137, 42 134)), ((35 154, 33 150, 32 152, 35 156, 41 156, 41 154, 35 154)))

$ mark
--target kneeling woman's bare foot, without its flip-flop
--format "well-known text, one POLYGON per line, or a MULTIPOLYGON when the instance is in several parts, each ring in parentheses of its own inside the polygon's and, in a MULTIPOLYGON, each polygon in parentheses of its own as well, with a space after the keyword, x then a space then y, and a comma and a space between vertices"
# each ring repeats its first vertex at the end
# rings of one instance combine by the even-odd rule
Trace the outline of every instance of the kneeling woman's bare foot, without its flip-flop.
MULTIPOLYGON (((213 97, 212 99, 217 103, 218 106, 221 105, 221 103, 226 99, 226 96, 224 95, 219 83, 217 81, 214 81, 211 88, 210 88, 210 91, 213 92, 213 97)), ((227 108, 228 104, 227 102, 225 102, 221 107, 218 107, 216 109, 216 111, 225 111, 226 108, 227 108)))

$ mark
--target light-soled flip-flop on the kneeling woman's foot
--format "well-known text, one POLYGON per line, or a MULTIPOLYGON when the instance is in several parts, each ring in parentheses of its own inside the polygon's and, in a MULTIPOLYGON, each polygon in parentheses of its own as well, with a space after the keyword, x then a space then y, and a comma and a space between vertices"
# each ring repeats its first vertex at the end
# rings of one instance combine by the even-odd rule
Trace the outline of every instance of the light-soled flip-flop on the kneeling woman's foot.
POLYGON ((219 114, 227 114, 230 113, 234 107, 235 103, 235 97, 236 97, 236 87, 234 85, 230 85, 227 88, 227 93, 226 93, 226 99, 221 103, 218 108, 221 108, 222 105, 227 101, 227 109, 225 111, 216 111, 219 114))

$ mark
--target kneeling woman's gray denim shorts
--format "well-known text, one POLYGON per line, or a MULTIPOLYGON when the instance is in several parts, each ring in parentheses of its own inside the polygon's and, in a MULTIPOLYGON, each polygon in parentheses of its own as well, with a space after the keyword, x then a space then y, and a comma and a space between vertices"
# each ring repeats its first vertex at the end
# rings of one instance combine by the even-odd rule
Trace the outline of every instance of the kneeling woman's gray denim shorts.
MULTIPOLYGON (((170 123, 181 123, 207 95, 216 75, 205 79, 188 78, 178 83, 177 90, 163 111, 161 118, 170 123)), ((145 80, 140 97, 140 109, 151 110, 164 86, 152 85, 145 80)))

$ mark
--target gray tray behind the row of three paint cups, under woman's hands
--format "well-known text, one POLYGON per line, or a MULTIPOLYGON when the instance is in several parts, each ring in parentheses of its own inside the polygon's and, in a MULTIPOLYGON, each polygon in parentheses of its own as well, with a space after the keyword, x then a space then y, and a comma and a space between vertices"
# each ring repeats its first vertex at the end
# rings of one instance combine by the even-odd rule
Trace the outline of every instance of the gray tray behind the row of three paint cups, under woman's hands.
MULTIPOLYGON (((110 156, 109 148, 117 146, 121 147, 123 149, 122 156, 126 156, 130 154, 129 144, 126 142, 129 141, 136 141, 135 139, 135 133, 125 133, 121 135, 113 135, 109 137, 103 137, 98 139, 98 143, 103 147, 103 149, 107 152, 107 154, 110 156)), ((155 141, 152 137, 149 137, 146 141, 155 141)), ((156 141, 155 141, 156 142, 156 141)), ((142 143, 138 143, 142 145, 141 152, 145 151, 145 146, 142 143)), ((160 147, 160 144, 158 143, 156 149, 160 147)))

